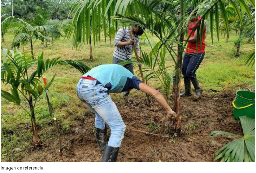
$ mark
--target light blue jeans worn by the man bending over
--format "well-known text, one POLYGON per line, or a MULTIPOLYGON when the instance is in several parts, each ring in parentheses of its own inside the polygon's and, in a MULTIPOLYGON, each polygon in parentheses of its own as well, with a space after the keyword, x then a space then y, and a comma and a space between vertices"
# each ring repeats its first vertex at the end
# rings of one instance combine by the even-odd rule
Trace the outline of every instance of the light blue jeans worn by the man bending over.
POLYGON ((95 113, 95 127, 105 129, 105 122, 108 124, 111 130, 108 146, 120 147, 126 125, 115 103, 108 95, 108 89, 104 88, 100 82, 81 78, 76 92, 78 98, 95 113))

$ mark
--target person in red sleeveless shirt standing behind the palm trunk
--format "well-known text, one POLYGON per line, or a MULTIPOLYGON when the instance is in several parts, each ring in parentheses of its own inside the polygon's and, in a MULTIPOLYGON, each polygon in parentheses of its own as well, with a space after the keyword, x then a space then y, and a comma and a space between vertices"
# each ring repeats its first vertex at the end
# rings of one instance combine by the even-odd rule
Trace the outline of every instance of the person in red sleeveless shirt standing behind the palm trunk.
MULTIPOLYGON (((205 32, 206 32, 206 23, 202 24, 201 17, 197 15, 197 11, 194 11, 193 7, 188 8, 187 14, 192 17, 188 24, 188 36, 189 38, 184 38, 183 41, 187 41, 187 49, 184 55, 181 73, 183 74, 184 84, 185 84, 185 92, 180 94, 180 96, 190 96, 191 95, 191 82, 196 91, 196 96, 200 96, 201 88, 199 82, 197 80, 196 71, 204 59, 205 55, 205 32), (200 25, 200 26, 199 26, 200 25), (203 30, 201 30, 201 25, 204 25, 203 30), (199 30, 199 35, 197 35, 197 30, 199 30), (200 41, 200 33, 203 32, 202 41, 200 41), (197 42, 197 37, 199 37, 199 41, 197 42), (200 42, 202 42, 200 46, 200 42)), ((178 14, 180 11, 178 11, 178 14)))

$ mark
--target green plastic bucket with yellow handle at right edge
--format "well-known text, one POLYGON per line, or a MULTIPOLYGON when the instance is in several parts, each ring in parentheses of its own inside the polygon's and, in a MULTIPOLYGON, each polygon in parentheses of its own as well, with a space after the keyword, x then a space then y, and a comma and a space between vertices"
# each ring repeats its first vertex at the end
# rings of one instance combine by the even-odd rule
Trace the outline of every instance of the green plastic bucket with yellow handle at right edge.
POLYGON ((237 91, 236 98, 232 102, 234 106, 233 116, 238 120, 239 116, 255 118, 255 92, 237 91))

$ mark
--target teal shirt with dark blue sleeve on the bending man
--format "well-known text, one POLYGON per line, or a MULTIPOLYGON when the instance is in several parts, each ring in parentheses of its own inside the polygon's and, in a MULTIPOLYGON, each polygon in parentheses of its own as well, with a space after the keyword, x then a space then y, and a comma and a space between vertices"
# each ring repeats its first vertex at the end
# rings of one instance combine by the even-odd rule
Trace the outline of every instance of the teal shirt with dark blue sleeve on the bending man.
POLYGON ((110 93, 119 93, 133 88, 140 90, 139 83, 142 82, 132 72, 118 64, 99 65, 83 76, 97 79, 110 93))

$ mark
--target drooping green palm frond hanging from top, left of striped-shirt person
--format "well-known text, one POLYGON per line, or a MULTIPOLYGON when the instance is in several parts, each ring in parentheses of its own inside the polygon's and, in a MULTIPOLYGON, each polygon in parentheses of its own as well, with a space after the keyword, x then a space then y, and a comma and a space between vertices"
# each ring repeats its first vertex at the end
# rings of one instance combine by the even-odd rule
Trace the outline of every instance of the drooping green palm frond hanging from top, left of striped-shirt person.
POLYGON ((110 19, 114 16, 114 5, 110 5, 106 11, 107 5, 112 0, 89 0, 89 1, 76 1, 76 0, 51 0, 57 6, 69 6, 71 14, 73 14, 70 23, 69 31, 66 34, 68 39, 72 38, 73 49, 80 49, 85 43, 90 46, 90 60, 92 57, 92 42, 98 44, 101 41, 101 31, 103 29, 104 40, 106 42, 107 36, 111 39, 115 38, 117 31, 117 21, 110 19))

